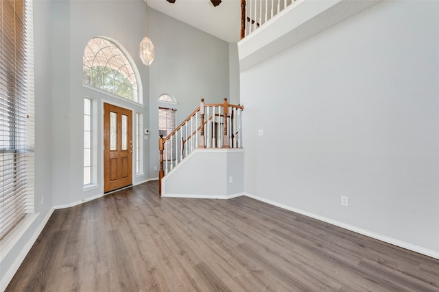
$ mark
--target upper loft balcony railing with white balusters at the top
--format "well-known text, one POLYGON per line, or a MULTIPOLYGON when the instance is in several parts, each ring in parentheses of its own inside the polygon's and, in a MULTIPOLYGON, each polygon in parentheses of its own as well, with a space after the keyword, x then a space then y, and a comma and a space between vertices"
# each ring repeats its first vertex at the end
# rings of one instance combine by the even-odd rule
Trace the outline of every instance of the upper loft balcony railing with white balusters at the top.
POLYGON ((241 0, 241 40, 300 0, 241 0))

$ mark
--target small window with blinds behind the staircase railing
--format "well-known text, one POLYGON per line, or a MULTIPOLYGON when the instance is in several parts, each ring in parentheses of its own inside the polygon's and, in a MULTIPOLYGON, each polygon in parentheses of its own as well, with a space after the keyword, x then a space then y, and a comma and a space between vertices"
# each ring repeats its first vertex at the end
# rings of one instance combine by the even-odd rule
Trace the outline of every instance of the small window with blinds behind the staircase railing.
MULTIPOLYGON (((167 109, 165 107, 158 108, 158 135, 166 137, 176 129, 176 109, 167 109)), ((163 151, 163 159, 174 160, 176 158, 176 140, 167 140, 165 142, 165 150, 163 151), (172 146, 169 143, 172 141, 172 146), (171 151, 172 149, 172 151, 171 151)))

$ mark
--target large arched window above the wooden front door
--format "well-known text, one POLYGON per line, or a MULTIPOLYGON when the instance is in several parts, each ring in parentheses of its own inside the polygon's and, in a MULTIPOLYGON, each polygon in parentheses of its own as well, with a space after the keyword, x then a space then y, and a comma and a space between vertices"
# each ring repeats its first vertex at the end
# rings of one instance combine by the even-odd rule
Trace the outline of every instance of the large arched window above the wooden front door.
POLYGON ((141 103, 140 82, 127 55, 110 40, 92 38, 84 49, 84 83, 141 103))

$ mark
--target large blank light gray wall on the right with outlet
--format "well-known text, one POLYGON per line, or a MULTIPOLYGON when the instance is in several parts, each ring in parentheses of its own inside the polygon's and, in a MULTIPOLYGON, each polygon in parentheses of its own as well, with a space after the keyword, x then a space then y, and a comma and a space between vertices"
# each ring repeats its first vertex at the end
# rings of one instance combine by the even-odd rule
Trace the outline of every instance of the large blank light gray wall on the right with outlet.
POLYGON ((438 13, 380 3, 241 72, 246 192, 437 256, 438 13))

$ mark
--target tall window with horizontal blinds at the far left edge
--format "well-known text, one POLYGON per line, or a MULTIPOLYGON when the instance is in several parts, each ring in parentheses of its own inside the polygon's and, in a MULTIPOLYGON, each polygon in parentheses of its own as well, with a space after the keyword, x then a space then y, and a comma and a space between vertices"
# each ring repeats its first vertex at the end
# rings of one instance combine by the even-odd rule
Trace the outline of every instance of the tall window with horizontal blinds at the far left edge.
POLYGON ((25 0, 0 1, 0 239, 25 217, 27 31, 25 0))

